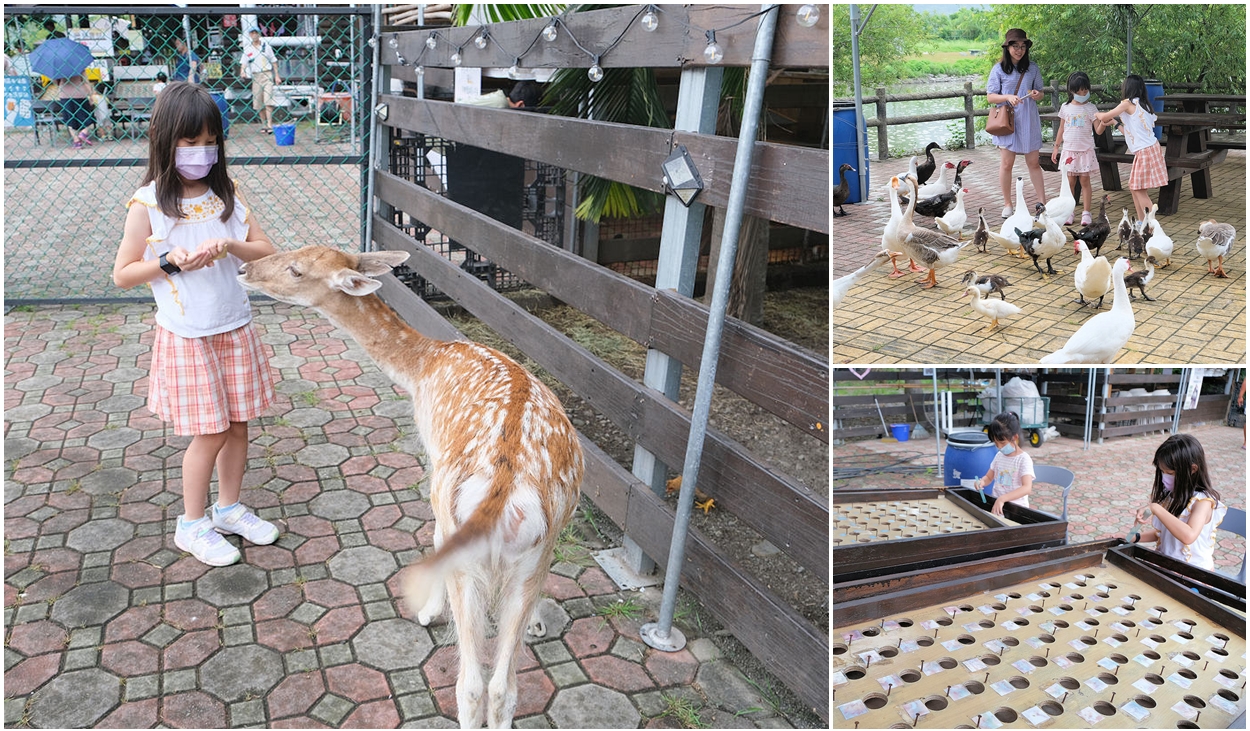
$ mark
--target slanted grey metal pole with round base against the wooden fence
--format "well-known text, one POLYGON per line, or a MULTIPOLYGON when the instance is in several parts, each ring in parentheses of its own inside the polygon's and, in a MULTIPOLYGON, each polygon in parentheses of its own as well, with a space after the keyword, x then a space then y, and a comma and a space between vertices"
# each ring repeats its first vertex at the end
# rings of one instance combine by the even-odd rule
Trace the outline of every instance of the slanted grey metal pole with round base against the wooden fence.
POLYGON ((729 187, 729 204, 725 206, 725 229, 720 241, 716 284, 708 311, 708 332, 704 337, 699 385, 695 389, 695 409, 690 417, 690 439, 686 441, 686 460, 681 470, 681 491, 678 495, 678 512, 672 521, 669 565, 664 574, 660 621, 642 625, 639 630, 644 642, 665 652, 676 652, 686 645, 685 636, 672 626, 672 614, 678 604, 681 565, 685 562, 686 531, 694 506, 695 486, 699 481, 699 466, 702 461, 702 444, 708 436, 708 416, 711 412, 712 387, 716 384, 716 361, 720 360, 720 339, 725 329, 729 284, 734 274, 734 259, 738 255, 738 234, 742 226, 742 209, 746 202, 751 160, 755 156, 755 137, 759 134, 760 110, 764 106, 764 86, 768 81, 769 61, 772 56, 772 35, 776 30, 779 6, 762 5, 762 7, 769 12, 760 16, 760 24, 755 31, 755 50, 751 52, 751 69, 742 109, 742 127, 739 130, 738 152, 734 156, 734 179, 729 187))

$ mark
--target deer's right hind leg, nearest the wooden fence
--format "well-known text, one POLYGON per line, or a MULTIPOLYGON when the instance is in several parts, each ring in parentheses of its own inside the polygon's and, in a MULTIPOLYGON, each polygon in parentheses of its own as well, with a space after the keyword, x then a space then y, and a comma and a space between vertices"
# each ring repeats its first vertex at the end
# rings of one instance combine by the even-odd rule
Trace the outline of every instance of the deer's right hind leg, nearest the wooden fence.
POLYGON ((516 712, 516 664, 521 641, 531 624, 539 591, 546 576, 550 551, 532 550, 514 562, 499 595, 499 636, 495 646, 495 671, 490 676, 491 729, 511 729, 516 712))

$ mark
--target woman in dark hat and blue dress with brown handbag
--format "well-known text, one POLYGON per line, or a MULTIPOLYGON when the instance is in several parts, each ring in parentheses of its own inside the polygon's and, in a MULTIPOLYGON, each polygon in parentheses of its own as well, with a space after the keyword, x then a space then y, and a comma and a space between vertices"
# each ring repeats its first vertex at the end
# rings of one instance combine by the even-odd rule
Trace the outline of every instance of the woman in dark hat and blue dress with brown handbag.
POLYGON ((1038 201, 1046 202, 1045 184, 1041 166, 1038 164, 1038 150, 1041 149, 1041 116, 1038 101, 1041 92, 1041 71, 1029 60, 1032 41, 1019 27, 1008 31, 1002 41, 1002 59, 990 71, 985 97, 990 104, 1010 104, 1015 109, 1015 131, 1010 135, 992 136, 994 144, 1002 151, 999 162, 999 185, 1002 189, 1002 217, 1011 216, 1011 169, 1015 156, 1024 155, 1029 166, 1029 179, 1038 201))

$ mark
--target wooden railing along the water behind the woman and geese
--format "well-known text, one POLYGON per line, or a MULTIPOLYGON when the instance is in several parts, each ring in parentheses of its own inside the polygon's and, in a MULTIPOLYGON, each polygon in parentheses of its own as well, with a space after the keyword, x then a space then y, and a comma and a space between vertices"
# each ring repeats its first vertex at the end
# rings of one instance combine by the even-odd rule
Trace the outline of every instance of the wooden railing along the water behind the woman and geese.
MULTIPOLYGON (((1165 89, 1184 89, 1194 90, 1199 89, 1199 84, 1166 84, 1165 89)), ((1064 104, 1064 94, 1066 94, 1066 82, 1058 79, 1052 79, 1050 85, 1044 86, 1042 91, 1049 92, 1050 105, 1039 106, 1039 111, 1042 114, 1056 111, 1064 104)), ((1119 91, 1115 87, 1108 89, 1100 84, 1095 84, 1090 91, 1104 92, 1101 96, 1115 96, 1119 91)), ((964 120, 964 144, 968 149, 972 150, 976 147, 976 117, 989 116, 990 106, 979 107, 975 99, 978 96, 984 97, 988 94, 985 87, 972 89, 972 82, 968 81, 964 84, 961 91, 920 91, 916 94, 888 94, 885 86, 876 87, 876 96, 865 96, 864 106, 872 104, 876 106, 876 116, 872 119, 865 119, 864 126, 876 127, 876 159, 886 160, 890 156, 890 132, 889 127, 891 125, 911 125, 919 122, 931 122, 931 121, 946 121, 946 120, 964 120), (886 111, 886 105, 891 101, 926 101, 932 99, 962 99, 964 110, 962 111, 939 111, 932 114, 914 114, 908 116, 889 116, 886 111)), ((835 102, 851 102, 854 99, 835 99, 835 102)), ((1096 104, 1098 109, 1108 110, 1112 109, 1119 101, 1105 101, 1096 104)))

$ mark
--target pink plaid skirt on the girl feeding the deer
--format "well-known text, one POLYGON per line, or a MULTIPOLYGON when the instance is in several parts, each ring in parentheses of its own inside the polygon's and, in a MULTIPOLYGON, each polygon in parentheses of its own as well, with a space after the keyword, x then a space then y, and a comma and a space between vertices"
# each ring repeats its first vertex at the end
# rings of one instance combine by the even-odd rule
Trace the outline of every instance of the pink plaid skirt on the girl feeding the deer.
POLYGON ((274 376, 251 324, 206 337, 156 326, 148 407, 179 436, 221 434, 274 402, 274 376))

